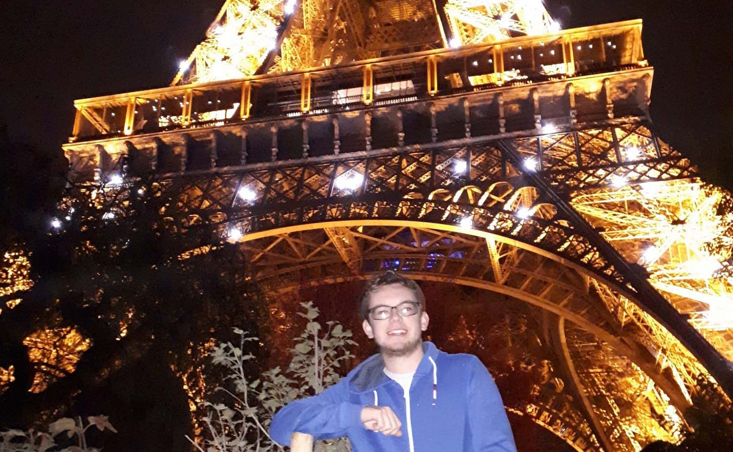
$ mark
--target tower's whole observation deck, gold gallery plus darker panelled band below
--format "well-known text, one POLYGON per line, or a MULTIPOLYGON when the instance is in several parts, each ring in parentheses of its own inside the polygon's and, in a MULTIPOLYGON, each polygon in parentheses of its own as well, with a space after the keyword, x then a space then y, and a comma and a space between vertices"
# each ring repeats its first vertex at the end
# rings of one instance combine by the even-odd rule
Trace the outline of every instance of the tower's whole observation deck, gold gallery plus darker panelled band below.
POLYGON ((63 148, 90 180, 539 135, 647 119, 652 73, 641 20, 609 23, 76 100, 63 148))

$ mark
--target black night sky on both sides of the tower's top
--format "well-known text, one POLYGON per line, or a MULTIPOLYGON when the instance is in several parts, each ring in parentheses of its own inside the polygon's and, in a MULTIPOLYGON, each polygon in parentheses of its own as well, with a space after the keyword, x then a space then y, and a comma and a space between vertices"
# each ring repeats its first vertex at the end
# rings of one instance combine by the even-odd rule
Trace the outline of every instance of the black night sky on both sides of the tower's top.
MULTIPOLYGON (((73 100, 167 86, 224 0, 4 1, 0 122, 14 141, 58 148, 73 100)), ((563 28, 644 19, 660 136, 732 188, 733 3, 545 0, 563 28)))

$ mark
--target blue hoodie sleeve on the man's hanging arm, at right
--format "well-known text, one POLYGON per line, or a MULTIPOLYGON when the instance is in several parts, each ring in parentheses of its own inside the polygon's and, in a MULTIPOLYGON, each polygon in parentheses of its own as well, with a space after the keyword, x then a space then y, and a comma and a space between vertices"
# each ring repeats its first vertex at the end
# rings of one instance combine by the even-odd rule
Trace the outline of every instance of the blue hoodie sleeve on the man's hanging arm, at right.
POLYGON ((517 451, 496 383, 477 357, 468 384, 468 428, 473 452, 517 451))

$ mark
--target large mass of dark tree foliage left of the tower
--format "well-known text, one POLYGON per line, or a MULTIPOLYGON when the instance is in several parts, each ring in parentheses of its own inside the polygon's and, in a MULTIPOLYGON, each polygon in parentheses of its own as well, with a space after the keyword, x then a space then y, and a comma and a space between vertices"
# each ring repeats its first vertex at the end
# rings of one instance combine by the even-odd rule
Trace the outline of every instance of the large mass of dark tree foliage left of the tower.
MULTIPOLYGON (((8 190, 21 193, 24 183, 18 179, 8 190)), ((183 440, 192 428, 183 378, 197 389, 206 360, 200 346, 226 339, 232 325, 260 333, 263 306, 240 248, 205 221, 192 226, 188 213, 158 189, 158 182, 145 179, 121 187, 72 186, 59 192, 62 197, 45 187, 39 188, 43 201, 29 201, 45 206, 35 233, 15 232, 5 244, 32 253, 34 286, 0 300, 3 307, 21 300, 0 314, 0 367, 15 369, 15 381, 0 388, 0 427, 103 412, 120 431, 139 435, 139 442, 112 440, 107 451, 170 448, 166 439, 183 440), (61 207, 53 212, 54 205, 61 207), (54 217, 60 227, 51 226, 54 217), (74 327, 91 341, 73 372, 29 359, 23 339, 54 327, 74 327), (38 372, 45 372, 48 387, 29 392, 38 372), (161 435, 156 424, 175 425, 176 434, 161 435)), ((27 214, 18 212, 7 230, 21 229, 27 214)))

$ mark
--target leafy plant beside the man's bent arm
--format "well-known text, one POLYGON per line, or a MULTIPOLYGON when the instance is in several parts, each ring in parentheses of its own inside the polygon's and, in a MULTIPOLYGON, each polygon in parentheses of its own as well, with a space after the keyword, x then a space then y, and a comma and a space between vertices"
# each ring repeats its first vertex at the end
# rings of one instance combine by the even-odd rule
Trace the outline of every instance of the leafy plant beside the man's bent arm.
MULTIPOLYGON (((208 415, 202 419, 207 427, 204 440, 194 442, 199 452, 275 452, 283 447, 270 438, 268 427, 273 415, 295 399, 322 392, 341 378, 342 363, 354 355, 350 347, 356 342, 350 330, 339 322, 317 322, 320 312, 313 303, 301 303, 303 312, 298 315, 307 320, 305 330, 296 337, 295 347, 290 349, 292 360, 285 371, 280 367, 262 373, 262 377, 249 381, 246 362, 254 355, 243 353, 248 341, 259 341, 246 331, 234 328, 240 336, 238 346, 221 343, 210 352, 215 365, 224 366, 228 373, 225 382, 233 390, 216 388, 229 396, 232 404, 206 401, 208 415)), ((318 442, 316 451, 347 452, 350 445, 345 438, 318 442)))

